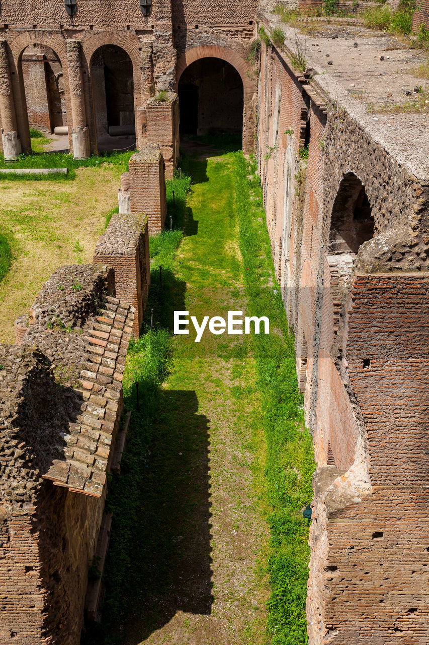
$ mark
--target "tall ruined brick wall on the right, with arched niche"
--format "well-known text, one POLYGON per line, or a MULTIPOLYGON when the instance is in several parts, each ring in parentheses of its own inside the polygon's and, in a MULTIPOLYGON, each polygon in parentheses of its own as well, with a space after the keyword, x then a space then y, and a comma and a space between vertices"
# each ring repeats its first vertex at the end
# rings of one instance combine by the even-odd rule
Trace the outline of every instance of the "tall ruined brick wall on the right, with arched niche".
POLYGON ((423 645, 428 182, 397 163, 316 79, 265 46, 258 159, 318 462, 309 642, 423 645), (305 144, 307 161, 299 155, 305 144), (357 252, 332 245, 331 213, 345 217, 357 199, 350 186, 363 187, 374 219, 357 252))

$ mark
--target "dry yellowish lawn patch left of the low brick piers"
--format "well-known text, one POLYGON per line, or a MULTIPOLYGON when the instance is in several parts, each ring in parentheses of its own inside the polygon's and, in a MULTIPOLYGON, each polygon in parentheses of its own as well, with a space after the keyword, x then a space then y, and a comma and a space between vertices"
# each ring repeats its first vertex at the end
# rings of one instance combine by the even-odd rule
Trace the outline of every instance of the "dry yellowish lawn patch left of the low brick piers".
POLYGON ((12 265, 0 283, 2 342, 14 342, 15 318, 56 268, 91 261, 106 214, 117 206, 124 168, 124 160, 104 159, 77 168, 73 181, 0 179, 0 232, 12 247, 12 265))

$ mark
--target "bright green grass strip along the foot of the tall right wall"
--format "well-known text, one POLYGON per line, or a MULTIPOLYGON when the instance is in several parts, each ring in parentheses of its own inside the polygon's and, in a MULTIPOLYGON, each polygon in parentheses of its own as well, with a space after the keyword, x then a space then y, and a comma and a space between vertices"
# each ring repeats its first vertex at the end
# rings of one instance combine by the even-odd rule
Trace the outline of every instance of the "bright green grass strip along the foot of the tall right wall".
MULTIPOLYGON (((254 173, 242 154, 235 156, 236 208, 240 250, 245 267, 245 291, 250 315, 267 315, 278 333, 251 337, 262 399, 263 428, 267 442, 265 479, 271 539, 268 568, 271 582, 269 637, 271 645, 307 642, 305 601, 310 550, 310 521, 302 510, 312 499, 312 439, 304 426, 303 396, 295 371, 294 337, 289 333, 285 309, 276 282, 263 209, 255 208, 247 176, 254 173), (259 216, 259 217, 258 217, 259 216), (274 288, 266 288, 271 273, 274 288), (262 288, 261 288, 262 287, 262 288)), ((252 183, 253 193, 260 186, 252 183)))

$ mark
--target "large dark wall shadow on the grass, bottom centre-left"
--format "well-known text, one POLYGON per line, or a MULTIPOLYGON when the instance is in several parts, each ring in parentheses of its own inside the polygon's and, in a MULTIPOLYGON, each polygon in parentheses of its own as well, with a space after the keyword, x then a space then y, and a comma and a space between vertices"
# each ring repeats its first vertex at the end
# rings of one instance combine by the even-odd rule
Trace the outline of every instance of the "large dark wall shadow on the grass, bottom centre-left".
POLYGON ((193 391, 162 392, 153 424, 129 571, 125 642, 137 645, 177 611, 209 614, 209 420, 193 391))

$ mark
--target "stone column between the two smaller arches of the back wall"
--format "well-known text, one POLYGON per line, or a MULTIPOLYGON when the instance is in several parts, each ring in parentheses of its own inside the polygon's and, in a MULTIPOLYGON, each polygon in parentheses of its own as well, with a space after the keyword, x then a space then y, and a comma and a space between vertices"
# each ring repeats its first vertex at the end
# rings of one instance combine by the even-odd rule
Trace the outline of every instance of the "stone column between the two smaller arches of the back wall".
POLYGON ((66 41, 68 82, 72 103, 72 143, 73 157, 87 159, 90 156, 90 130, 86 124, 85 100, 81 69, 81 43, 66 41))

